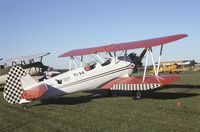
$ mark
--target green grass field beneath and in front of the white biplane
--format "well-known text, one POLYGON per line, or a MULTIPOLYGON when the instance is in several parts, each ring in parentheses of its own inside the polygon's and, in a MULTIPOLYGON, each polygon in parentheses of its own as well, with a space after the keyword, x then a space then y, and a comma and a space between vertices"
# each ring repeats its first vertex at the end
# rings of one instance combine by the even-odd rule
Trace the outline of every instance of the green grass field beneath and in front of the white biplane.
POLYGON ((76 93, 36 102, 23 109, 7 104, 0 92, 0 131, 200 131, 200 73, 133 100, 130 93, 76 93))

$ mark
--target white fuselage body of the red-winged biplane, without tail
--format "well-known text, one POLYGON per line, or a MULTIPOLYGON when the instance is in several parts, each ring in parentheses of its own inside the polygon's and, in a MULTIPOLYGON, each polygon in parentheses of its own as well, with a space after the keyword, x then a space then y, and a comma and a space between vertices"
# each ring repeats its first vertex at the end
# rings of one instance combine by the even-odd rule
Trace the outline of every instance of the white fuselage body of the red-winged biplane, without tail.
POLYGON ((48 91, 43 98, 100 88, 102 84, 112 79, 129 76, 133 71, 132 68, 130 62, 112 58, 110 64, 102 66, 97 63, 95 68, 89 71, 83 67, 70 70, 41 82, 48 85, 48 91))

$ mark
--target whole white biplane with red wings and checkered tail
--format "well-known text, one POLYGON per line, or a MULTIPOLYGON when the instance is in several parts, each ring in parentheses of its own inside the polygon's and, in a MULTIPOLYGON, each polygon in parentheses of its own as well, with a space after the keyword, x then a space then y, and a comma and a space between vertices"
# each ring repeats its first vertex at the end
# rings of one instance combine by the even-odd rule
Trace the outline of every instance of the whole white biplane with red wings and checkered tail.
POLYGON ((79 91, 105 89, 133 91, 135 97, 140 99, 143 91, 180 79, 175 75, 159 75, 159 65, 154 65, 153 76, 146 76, 146 72, 149 56, 155 64, 152 47, 160 46, 160 62, 163 46, 184 37, 187 34, 71 50, 59 56, 69 58, 69 70, 41 82, 35 81, 20 66, 14 66, 9 71, 3 95, 10 104, 26 104, 79 91), (128 53, 128 50, 138 48, 144 49, 139 56, 128 53), (100 53, 106 53, 109 57, 103 58, 100 53), (85 63, 88 55, 93 56, 96 61, 85 63), (143 76, 131 76, 142 66, 143 58, 146 59, 143 76))

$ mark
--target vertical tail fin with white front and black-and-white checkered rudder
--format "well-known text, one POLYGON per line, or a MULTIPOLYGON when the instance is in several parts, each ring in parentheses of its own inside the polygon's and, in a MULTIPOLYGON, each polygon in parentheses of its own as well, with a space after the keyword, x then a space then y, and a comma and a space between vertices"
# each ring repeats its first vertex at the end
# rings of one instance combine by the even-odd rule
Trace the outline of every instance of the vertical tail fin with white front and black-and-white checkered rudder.
POLYGON ((34 83, 36 81, 33 81, 20 66, 14 66, 8 72, 3 92, 4 98, 10 104, 19 104, 24 90, 34 83))

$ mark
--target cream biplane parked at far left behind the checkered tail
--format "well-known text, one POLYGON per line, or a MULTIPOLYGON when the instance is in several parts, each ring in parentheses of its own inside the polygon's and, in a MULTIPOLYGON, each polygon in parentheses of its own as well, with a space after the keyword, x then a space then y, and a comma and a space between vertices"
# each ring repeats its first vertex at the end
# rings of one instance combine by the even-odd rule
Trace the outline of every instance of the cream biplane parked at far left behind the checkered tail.
POLYGON ((8 72, 13 66, 21 66, 26 73, 37 77, 47 71, 48 66, 43 65, 43 58, 50 53, 38 53, 33 55, 15 57, 0 61, 0 85, 4 85, 8 72))

